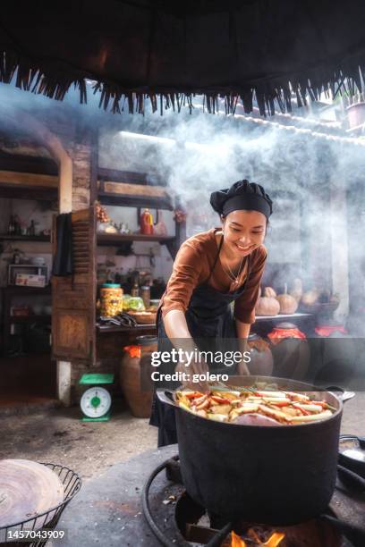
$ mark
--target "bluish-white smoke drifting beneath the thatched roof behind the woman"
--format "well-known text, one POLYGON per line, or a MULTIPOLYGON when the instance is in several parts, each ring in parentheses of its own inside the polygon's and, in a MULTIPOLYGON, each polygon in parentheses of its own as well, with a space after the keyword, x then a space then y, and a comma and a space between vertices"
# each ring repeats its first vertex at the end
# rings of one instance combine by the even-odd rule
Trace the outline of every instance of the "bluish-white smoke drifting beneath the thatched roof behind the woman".
MULTIPOLYGON (((288 116, 258 122, 207 114, 199 98, 192 114, 186 109, 163 116, 104 113, 98 110, 98 97, 78 105, 72 93, 62 105, 5 85, 0 86, 0 100, 3 106, 25 110, 61 113, 67 107, 98 126, 99 165, 148 173, 151 183, 164 181, 176 203, 188 211, 188 235, 219 225, 209 206, 211 191, 244 178, 262 184, 274 199, 266 282, 283 290, 285 282, 290 286, 301 277, 305 290, 339 292, 340 319, 348 313, 350 283, 350 292, 359 287, 350 306, 365 309, 361 139, 330 139, 335 129, 327 130, 314 115, 308 123, 305 118, 291 122, 288 116)), ((345 133, 337 130, 337 135, 345 133)))

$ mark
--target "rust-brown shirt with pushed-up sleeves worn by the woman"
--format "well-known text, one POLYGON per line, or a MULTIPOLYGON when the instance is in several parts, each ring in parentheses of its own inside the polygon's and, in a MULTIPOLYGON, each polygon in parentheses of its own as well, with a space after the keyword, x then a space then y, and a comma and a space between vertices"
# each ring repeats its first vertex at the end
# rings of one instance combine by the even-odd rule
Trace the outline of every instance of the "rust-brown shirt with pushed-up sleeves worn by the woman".
MULTIPOLYGON (((189 238, 183 242, 174 260, 173 273, 167 283, 166 291, 161 299, 162 316, 172 309, 180 309, 184 313, 189 306, 191 293, 195 287, 206 282, 214 265, 218 247, 216 231, 212 228, 189 238)), ((208 284, 216 290, 231 292, 236 286, 246 282, 242 295, 234 302, 234 317, 242 323, 255 322, 255 305, 259 298, 259 284, 264 271, 267 250, 261 245, 250 254, 250 274, 248 276, 248 257, 244 258, 242 272, 235 284, 223 269, 220 259, 210 276, 208 284)))

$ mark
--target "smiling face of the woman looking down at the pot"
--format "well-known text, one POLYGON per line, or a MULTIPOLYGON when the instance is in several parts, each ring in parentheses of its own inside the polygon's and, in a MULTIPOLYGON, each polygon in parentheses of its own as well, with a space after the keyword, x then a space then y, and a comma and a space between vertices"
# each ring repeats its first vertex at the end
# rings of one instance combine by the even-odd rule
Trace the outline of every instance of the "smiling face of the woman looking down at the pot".
POLYGON ((236 257, 247 257, 265 239, 267 218, 259 211, 232 211, 222 223, 225 248, 236 257))

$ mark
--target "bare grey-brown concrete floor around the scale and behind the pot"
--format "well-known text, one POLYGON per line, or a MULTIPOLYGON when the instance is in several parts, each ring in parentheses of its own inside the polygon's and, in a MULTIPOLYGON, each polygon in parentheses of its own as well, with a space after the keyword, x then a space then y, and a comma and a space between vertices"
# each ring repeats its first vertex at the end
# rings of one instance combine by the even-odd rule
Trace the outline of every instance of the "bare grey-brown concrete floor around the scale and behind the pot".
MULTIPOLYGON (((48 408, 0 417, 0 459, 61 463, 83 479, 101 475, 117 462, 157 447, 157 428, 132 417, 116 401, 109 422, 84 423, 79 408, 48 408)), ((365 392, 344 405, 342 433, 365 435, 365 392)))

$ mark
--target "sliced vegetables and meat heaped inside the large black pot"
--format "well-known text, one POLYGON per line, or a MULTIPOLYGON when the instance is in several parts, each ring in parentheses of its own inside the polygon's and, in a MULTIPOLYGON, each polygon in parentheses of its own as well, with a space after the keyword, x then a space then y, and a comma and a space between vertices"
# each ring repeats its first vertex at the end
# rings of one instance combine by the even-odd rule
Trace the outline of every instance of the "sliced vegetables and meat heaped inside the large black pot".
POLYGON ((212 387, 208 393, 176 391, 179 407, 199 417, 241 425, 295 425, 331 417, 336 408, 325 400, 312 400, 294 391, 262 391, 258 388, 225 390, 212 387))

